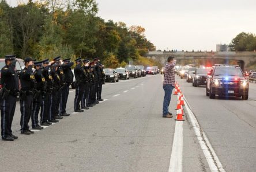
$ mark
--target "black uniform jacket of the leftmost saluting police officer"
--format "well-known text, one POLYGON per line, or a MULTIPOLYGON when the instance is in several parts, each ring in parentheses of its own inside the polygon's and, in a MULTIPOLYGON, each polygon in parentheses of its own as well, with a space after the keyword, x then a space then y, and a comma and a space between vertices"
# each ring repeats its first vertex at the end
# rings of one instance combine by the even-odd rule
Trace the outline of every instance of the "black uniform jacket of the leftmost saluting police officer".
POLYGON ((14 68, 13 65, 5 65, 1 69, 1 84, 11 92, 18 92, 18 75, 14 68))

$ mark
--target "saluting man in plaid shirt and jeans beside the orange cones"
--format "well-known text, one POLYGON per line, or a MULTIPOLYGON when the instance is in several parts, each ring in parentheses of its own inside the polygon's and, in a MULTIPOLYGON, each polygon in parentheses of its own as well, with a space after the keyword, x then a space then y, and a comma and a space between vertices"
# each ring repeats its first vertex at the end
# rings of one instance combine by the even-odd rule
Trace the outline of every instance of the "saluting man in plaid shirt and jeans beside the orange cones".
POLYGON ((171 112, 169 112, 169 105, 171 101, 172 89, 175 88, 175 73, 174 66, 176 60, 170 56, 167 59, 167 64, 164 69, 164 103, 163 103, 163 118, 172 118, 171 112))

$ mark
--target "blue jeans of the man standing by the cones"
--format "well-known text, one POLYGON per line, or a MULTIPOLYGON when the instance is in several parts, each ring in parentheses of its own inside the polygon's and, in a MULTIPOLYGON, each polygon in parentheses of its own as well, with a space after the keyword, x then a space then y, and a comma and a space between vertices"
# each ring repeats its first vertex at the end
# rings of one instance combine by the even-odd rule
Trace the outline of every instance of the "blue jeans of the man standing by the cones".
POLYGON ((166 116, 169 113, 169 105, 171 101, 172 96, 172 89, 174 89, 174 86, 171 84, 165 84, 163 85, 164 88, 164 103, 163 103, 163 116, 166 116))

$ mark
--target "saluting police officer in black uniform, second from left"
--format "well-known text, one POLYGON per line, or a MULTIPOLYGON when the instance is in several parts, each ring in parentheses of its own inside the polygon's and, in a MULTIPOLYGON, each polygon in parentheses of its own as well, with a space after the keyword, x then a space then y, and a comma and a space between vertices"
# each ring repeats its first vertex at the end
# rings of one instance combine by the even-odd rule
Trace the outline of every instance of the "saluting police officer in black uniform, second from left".
POLYGON ((20 99, 20 126, 21 134, 29 135, 34 132, 29 130, 28 122, 32 114, 33 89, 35 76, 32 73, 33 58, 25 58, 25 68, 20 73, 21 99, 20 99))

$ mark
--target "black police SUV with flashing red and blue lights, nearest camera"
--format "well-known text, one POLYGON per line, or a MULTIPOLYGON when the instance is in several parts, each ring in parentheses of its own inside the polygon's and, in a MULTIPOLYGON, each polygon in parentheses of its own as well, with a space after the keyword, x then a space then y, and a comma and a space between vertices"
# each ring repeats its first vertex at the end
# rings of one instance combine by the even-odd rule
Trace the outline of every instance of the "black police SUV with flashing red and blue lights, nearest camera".
POLYGON ((242 96, 248 100, 249 81, 244 76, 239 65, 214 65, 206 80, 206 96, 242 96))

